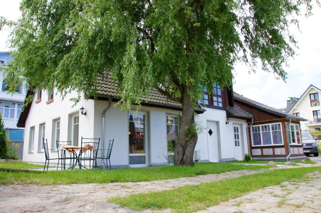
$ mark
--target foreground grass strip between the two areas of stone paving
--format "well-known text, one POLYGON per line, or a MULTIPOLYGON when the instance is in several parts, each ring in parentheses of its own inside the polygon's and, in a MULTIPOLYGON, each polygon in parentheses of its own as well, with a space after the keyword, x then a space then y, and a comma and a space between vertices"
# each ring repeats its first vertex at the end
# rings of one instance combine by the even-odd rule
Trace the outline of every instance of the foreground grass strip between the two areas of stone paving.
MULTIPOLYGON (((138 211, 170 208, 173 212, 194 212, 266 186, 279 185, 284 181, 302 178, 307 173, 314 171, 321 171, 321 167, 273 170, 218 182, 186 185, 162 192, 113 197, 108 199, 108 202, 116 203, 123 207, 128 206, 130 209, 138 211)), ((280 201, 278 204, 283 205, 283 202, 285 201, 280 201)))

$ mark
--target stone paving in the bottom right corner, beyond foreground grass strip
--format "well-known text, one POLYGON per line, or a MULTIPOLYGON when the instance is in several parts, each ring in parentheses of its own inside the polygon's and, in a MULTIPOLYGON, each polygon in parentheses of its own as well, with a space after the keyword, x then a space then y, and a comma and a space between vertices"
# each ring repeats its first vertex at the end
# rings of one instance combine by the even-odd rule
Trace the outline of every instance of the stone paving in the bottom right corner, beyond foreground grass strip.
POLYGON ((198 213, 321 212, 321 174, 314 172, 307 176, 304 181, 268 186, 198 213))

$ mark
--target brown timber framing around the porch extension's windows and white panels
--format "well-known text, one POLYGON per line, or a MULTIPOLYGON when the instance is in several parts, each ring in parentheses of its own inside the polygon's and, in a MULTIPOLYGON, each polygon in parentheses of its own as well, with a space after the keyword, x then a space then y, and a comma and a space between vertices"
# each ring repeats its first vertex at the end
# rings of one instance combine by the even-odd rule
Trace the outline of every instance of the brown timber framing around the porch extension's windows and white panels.
MULTIPOLYGON (((282 135, 283 135, 283 145, 270 145, 270 146, 255 146, 255 147, 252 147, 252 135, 251 135, 251 128, 249 128, 249 132, 248 132, 248 135, 249 135, 249 143, 250 143, 250 153, 251 153, 251 156, 254 157, 254 158, 269 158, 269 157, 286 157, 288 156, 289 154, 289 150, 288 150, 288 142, 287 142, 287 137, 286 137, 286 128, 285 128, 285 123, 288 122, 289 119, 279 119, 279 120, 273 120, 273 121, 264 121, 264 122, 255 122, 253 123, 253 125, 261 125, 261 124, 271 124, 271 123, 281 123, 282 125, 282 135), (263 149, 270 149, 272 148, 273 149, 273 155, 263 155, 263 149), (275 148, 284 148, 285 149, 285 154, 280 154, 280 155, 276 155, 275 154, 275 148), (260 149, 261 150, 261 155, 253 155, 252 153, 252 149, 260 149)), ((293 124, 299 124, 300 125, 300 122, 299 121, 292 121, 291 123, 293 124)), ((302 144, 301 145, 290 145, 291 148, 294 148, 294 147, 297 147, 297 148, 302 148, 302 144)), ((304 154, 293 154, 291 153, 291 156, 293 157, 297 157, 297 156, 304 156, 304 154)))

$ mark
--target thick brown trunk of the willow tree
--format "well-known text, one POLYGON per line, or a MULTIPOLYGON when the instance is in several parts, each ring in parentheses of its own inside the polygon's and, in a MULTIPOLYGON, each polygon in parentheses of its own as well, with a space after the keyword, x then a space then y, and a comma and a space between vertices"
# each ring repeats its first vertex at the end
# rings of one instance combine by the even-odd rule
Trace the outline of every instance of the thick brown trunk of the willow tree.
POLYGON ((183 112, 179 123, 180 126, 174 153, 174 164, 175 166, 194 166, 193 155, 197 142, 197 134, 188 138, 186 132, 186 128, 195 123, 192 100, 187 89, 184 91, 182 107, 183 112))

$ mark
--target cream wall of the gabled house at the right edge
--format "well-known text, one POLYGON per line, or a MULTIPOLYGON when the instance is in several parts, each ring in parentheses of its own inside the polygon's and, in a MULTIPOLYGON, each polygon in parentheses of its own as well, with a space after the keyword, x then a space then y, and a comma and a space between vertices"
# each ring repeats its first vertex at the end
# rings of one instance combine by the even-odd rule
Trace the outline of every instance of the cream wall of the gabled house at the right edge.
POLYGON ((315 130, 315 128, 318 128, 318 127, 321 128, 321 123, 318 123, 318 124, 310 123, 310 122, 313 122, 313 111, 316 111, 316 110, 321 111, 321 105, 311 106, 309 94, 312 94, 312 93, 318 93, 319 98, 321 97, 321 93, 318 90, 314 88, 310 88, 307 94, 302 97, 301 101, 295 106, 295 108, 289 112, 290 114, 299 112, 300 117, 308 119, 308 121, 300 122, 301 130, 315 130))

